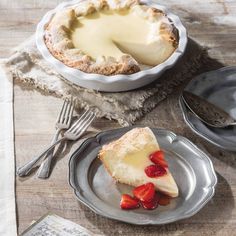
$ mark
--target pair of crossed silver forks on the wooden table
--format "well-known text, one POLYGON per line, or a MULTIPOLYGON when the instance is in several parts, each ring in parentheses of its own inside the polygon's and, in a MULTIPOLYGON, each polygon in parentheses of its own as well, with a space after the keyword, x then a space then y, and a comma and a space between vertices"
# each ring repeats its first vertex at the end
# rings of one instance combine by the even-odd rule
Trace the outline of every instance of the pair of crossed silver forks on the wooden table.
POLYGON ((72 120, 73 110, 74 110, 74 103, 65 100, 56 122, 57 131, 54 135, 52 144, 39 156, 33 158, 31 161, 20 167, 17 170, 17 174, 19 176, 21 177, 26 176, 36 165, 36 163, 38 163, 39 160, 41 160, 47 154, 45 160, 42 162, 39 168, 39 173, 38 173, 38 177, 47 178, 50 172, 50 164, 53 158, 54 147, 64 140, 77 140, 86 131, 86 129, 90 126, 90 124, 95 118, 94 112, 87 110, 71 126, 71 128, 68 129, 70 127, 70 123, 72 120), (63 129, 68 129, 68 130, 64 133, 63 137, 58 139, 58 136, 63 129))

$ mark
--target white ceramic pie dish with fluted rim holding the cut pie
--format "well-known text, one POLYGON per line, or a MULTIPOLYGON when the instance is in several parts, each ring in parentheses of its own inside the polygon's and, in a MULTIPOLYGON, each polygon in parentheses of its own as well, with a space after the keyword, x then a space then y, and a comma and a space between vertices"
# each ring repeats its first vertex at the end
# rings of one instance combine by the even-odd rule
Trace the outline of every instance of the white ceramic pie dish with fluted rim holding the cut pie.
POLYGON ((184 53, 187 44, 187 33, 178 16, 172 14, 164 6, 158 5, 152 1, 142 1, 147 5, 153 6, 165 12, 167 17, 173 22, 179 33, 179 44, 174 53, 163 63, 152 67, 151 69, 142 70, 131 75, 113 75, 105 76, 99 74, 90 74, 82 72, 78 69, 66 66, 61 61, 57 60, 48 50, 44 42, 44 28, 48 24, 53 15, 63 8, 68 8, 76 5, 83 0, 72 0, 63 2, 55 9, 46 13, 39 22, 36 29, 36 45, 44 59, 51 64, 55 70, 68 81, 79 86, 106 92, 127 91, 147 85, 158 79, 162 73, 171 68, 180 56, 184 53))

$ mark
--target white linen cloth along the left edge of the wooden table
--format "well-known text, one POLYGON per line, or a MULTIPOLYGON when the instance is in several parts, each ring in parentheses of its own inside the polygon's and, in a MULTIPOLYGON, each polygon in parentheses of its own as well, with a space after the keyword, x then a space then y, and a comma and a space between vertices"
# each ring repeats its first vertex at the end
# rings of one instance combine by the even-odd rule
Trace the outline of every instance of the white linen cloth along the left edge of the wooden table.
POLYGON ((13 82, 0 61, 0 235, 14 236, 15 159, 13 131, 13 82))

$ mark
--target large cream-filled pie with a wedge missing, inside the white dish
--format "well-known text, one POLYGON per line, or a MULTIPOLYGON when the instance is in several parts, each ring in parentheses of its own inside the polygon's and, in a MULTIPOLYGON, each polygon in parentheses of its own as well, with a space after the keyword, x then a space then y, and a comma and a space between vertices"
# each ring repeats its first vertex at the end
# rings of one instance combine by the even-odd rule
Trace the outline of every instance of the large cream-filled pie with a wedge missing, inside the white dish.
POLYGON ((45 28, 45 43, 69 67, 132 74, 170 57, 178 32, 161 10, 138 1, 81 1, 54 14, 45 28))

